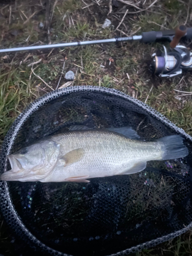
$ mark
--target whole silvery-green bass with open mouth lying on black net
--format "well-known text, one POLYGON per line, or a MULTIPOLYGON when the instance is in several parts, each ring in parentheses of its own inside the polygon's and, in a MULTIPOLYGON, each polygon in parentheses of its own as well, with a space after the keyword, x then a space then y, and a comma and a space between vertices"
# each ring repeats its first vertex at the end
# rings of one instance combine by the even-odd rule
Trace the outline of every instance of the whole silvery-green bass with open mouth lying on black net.
POLYGON ((147 161, 188 155, 180 135, 141 140, 130 127, 72 127, 8 155, 4 181, 90 182, 88 179, 141 172, 147 161))

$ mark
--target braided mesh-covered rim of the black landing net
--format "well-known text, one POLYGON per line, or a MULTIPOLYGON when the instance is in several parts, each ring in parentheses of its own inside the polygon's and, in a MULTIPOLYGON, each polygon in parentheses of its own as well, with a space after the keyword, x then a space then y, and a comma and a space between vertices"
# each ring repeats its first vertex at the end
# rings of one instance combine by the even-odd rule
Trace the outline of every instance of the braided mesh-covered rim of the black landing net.
MULTIPOLYGON (((160 114, 158 111, 154 110, 147 104, 141 102, 138 99, 135 99, 129 95, 126 95, 116 89, 109 89, 109 88, 103 88, 103 87, 96 87, 96 86, 73 86, 73 87, 68 87, 68 88, 63 88, 59 90, 55 90, 53 92, 50 92, 48 94, 45 94, 44 96, 41 96, 40 98, 36 99, 32 103, 29 104, 29 106, 24 110, 23 113, 21 113, 13 122, 11 125, 8 133, 5 136, 4 142, 2 144, 1 152, 0 152, 0 172, 3 173, 4 169, 7 167, 7 159, 6 156, 10 153, 11 147, 14 143, 15 137, 17 136, 20 127, 22 127, 23 123, 29 118, 29 116, 34 113, 36 110, 40 108, 40 106, 46 104, 47 102, 56 99, 58 97, 61 97, 63 95, 71 94, 71 93, 76 93, 78 91, 91 91, 91 92, 99 92, 99 93, 105 93, 108 95, 113 95, 117 96, 120 98, 123 98, 125 100, 131 101, 135 103, 137 106, 140 106, 143 110, 145 110, 148 114, 150 114, 152 117, 156 118, 157 120, 160 120, 162 123, 165 125, 169 126, 171 129, 173 129, 175 132, 178 134, 184 136, 186 139, 190 140, 192 142, 192 137, 189 136, 184 132, 183 129, 177 127, 174 123, 169 121, 165 116, 160 114), (10 139, 8 139, 10 138, 10 139), (8 140, 10 141, 8 143, 8 140), (6 143, 9 144, 8 147, 6 147, 6 143)), ((50 255, 62 255, 62 256, 72 256, 71 254, 66 254, 63 252, 59 252, 57 250, 54 250, 47 246, 46 244, 42 243, 39 241, 33 234, 29 231, 29 229, 24 225, 22 220, 20 219, 20 216, 17 214, 17 211, 14 208, 14 205, 12 204, 11 201, 11 196, 9 193, 9 187, 6 181, 0 181, 0 193, 1 193, 1 198, 0 198, 0 206, 1 206, 1 211, 2 214, 4 215, 4 218, 11 219, 14 218, 14 222, 16 223, 14 227, 14 231, 16 233, 22 233, 24 239, 29 242, 30 239, 30 244, 33 243, 33 246, 37 247, 41 251, 46 251, 49 252, 50 255), (8 214, 5 215, 4 210, 8 211, 8 214)), ((160 238, 156 238, 154 240, 139 244, 137 246, 133 246, 131 248, 127 248, 125 250, 110 254, 108 256, 117 256, 117 255, 126 255, 131 252, 136 252, 138 250, 142 250, 144 248, 149 248, 154 245, 160 244, 162 242, 167 241, 168 239, 173 239, 180 234, 186 232, 192 227, 192 222, 189 223, 186 227, 177 230, 173 233, 169 233, 165 236, 162 236, 160 238)))

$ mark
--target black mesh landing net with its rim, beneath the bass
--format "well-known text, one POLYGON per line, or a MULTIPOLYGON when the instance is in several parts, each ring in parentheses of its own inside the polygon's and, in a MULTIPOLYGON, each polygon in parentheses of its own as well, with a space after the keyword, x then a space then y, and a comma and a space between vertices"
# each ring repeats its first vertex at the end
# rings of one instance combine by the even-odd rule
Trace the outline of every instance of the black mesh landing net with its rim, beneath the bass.
POLYGON ((127 255, 155 246, 192 226, 192 138, 146 104, 114 89, 71 87, 39 98, 15 120, 6 155, 72 125, 129 126, 141 139, 180 134, 189 155, 151 161, 132 175, 90 183, 0 182, 5 220, 23 243, 46 255, 127 255))

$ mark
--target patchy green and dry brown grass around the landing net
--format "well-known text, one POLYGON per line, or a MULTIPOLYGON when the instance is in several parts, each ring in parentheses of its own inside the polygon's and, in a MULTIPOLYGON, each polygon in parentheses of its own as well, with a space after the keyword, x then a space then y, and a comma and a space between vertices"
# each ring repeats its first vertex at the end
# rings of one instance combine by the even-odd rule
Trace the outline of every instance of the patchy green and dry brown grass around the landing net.
MULTIPOLYGON (((58 1, 53 12, 49 36, 45 27, 39 28, 39 22, 45 25, 46 19, 46 8, 40 1, 34 3, 31 0, 17 0, 16 4, 0 4, 0 31, 2 31, 0 47, 11 48, 34 43, 54 44, 61 41, 112 38, 117 35, 130 35, 137 30, 136 34, 143 31, 162 30, 164 27, 171 29, 185 22, 188 27, 192 25, 191 9, 187 18, 188 1, 164 0, 157 2, 148 11, 127 14, 119 30, 116 30, 126 8, 129 8, 129 12, 137 9, 119 3, 119 7, 117 9, 113 7, 113 12, 108 15, 108 3, 104 0, 100 0, 99 4, 97 2, 58 1), (35 14, 29 18, 34 12, 35 14), (102 29, 105 18, 112 21, 112 26, 102 29)), ((146 8, 153 1, 145 2, 144 6, 138 7, 146 8)), ((168 46, 167 43, 165 45, 168 46)), ((185 42, 185 45, 191 46, 190 42, 185 42)), ((183 76, 171 79, 153 78, 148 71, 148 59, 159 47, 162 47, 162 44, 144 45, 140 42, 123 42, 118 46, 108 44, 1 54, 0 142, 3 142, 14 119, 30 102, 50 92, 51 88, 54 90, 57 87, 63 61, 66 61, 64 73, 72 70, 76 74, 74 86, 79 84, 115 88, 143 102, 148 96, 146 102, 148 105, 192 135, 191 95, 179 96, 178 100, 175 97, 181 93, 174 91, 177 89, 191 92, 192 75, 187 72, 183 76), (28 67, 30 63, 40 59, 41 61, 34 65, 33 69, 48 86, 32 73, 31 67, 28 67), (151 88, 152 91, 149 94, 151 88)), ((66 82, 67 80, 62 76, 59 86, 66 82)), ((4 224, 1 230, 3 227, 4 224)), ((190 255, 192 253, 190 236, 191 232, 187 232, 183 236, 156 248, 138 252, 136 255, 190 255)), ((4 231, 1 231, 0 241, 5 239, 6 234, 4 236, 4 231)))

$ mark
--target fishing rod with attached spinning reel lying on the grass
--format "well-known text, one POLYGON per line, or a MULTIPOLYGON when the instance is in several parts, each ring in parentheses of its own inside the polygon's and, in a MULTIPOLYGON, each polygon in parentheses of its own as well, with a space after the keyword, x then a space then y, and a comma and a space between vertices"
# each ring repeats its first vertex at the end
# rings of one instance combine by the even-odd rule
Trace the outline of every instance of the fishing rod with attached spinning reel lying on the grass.
POLYGON ((18 47, 10 49, 0 49, 0 53, 4 52, 16 52, 16 51, 28 51, 28 50, 40 50, 50 48, 65 48, 73 46, 85 46, 85 45, 97 45, 108 44, 110 42, 122 42, 122 41, 140 41, 145 44, 157 42, 157 41, 169 41, 170 52, 167 54, 167 50, 164 47, 164 53, 155 53, 152 55, 152 63, 150 69, 153 74, 160 77, 172 77, 182 73, 183 70, 192 69, 192 54, 184 46, 178 46, 180 39, 185 40, 192 39, 192 28, 186 28, 184 25, 177 27, 176 29, 163 30, 163 31, 149 31, 143 32, 141 35, 116 37, 101 40, 91 41, 77 41, 77 42, 65 42, 63 44, 54 45, 42 45, 42 46, 28 46, 18 47))

